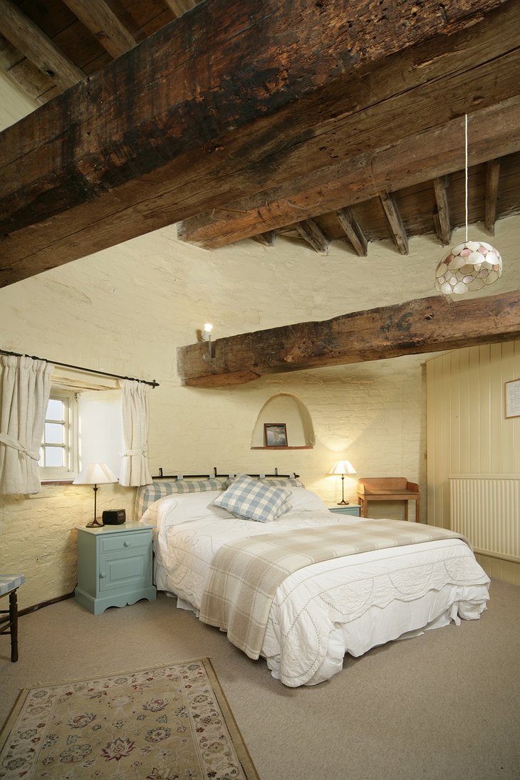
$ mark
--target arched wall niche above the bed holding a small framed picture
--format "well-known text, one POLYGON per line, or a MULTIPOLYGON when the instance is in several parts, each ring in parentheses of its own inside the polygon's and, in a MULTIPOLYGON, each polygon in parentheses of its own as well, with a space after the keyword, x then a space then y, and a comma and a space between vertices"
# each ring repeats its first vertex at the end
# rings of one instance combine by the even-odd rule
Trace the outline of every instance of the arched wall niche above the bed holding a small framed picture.
POLYGON ((281 392, 268 399, 260 410, 253 430, 251 449, 312 449, 315 441, 313 420, 306 405, 296 395, 281 392), (265 446, 265 423, 285 423, 287 446, 265 446))

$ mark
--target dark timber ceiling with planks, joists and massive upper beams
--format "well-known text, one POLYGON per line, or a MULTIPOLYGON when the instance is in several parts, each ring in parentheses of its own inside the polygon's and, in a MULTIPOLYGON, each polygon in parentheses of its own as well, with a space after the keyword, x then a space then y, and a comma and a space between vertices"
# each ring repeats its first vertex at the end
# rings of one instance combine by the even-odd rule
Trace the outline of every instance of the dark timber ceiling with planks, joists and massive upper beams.
POLYGON ((178 223, 369 255, 520 213, 516 0, 0 0, 0 285, 178 223))

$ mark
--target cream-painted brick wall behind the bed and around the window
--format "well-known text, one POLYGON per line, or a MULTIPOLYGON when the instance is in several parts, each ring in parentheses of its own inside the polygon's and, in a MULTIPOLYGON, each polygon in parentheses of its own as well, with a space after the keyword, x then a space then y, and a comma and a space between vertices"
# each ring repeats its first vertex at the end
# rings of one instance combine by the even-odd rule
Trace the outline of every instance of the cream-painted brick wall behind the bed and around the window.
MULTIPOLYGON (((514 257, 518 219, 497 225, 494 243, 514 257)), ((479 231, 472 232, 472 236, 479 231)), ((462 238, 454 236, 454 243, 462 238)), ((157 473, 211 470, 296 471, 331 505, 339 478, 334 460, 356 467, 345 493, 356 499, 356 479, 405 476, 426 491, 425 356, 278 374, 235 388, 183 388, 177 346, 196 340, 203 323, 214 338, 299 321, 320 320, 416 297, 430 296, 442 254, 433 239, 412 239, 401 257, 391 243, 370 246, 360 259, 336 244, 320 257, 301 243, 278 239, 274 249, 246 241, 213 254, 187 246, 175 227, 0 289, 3 349, 50 360, 155 378, 150 391, 150 468, 157 473), (251 450, 258 413, 280 392, 297 396, 310 412, 316 446, 310 450, 251 450)), ((518 264, 517 264, 518 265, 518 264)), ((507 270, 489 294, 520 287, 520 266, 507 270)), ((275 420, 278 422, 278 420, 275 420)), ((0 569, 26 573, 20 605, 73 590, 76 526, 92 512, 92 491, 48 486, 36 498, 0 499, 0 569)), ((98 507, 125 507, 133 490, 104 486, 98 507)), ((423 519, 426 502, 423 502, 423 519)), ((399 516, 394 505, 382 511, 399 516)))

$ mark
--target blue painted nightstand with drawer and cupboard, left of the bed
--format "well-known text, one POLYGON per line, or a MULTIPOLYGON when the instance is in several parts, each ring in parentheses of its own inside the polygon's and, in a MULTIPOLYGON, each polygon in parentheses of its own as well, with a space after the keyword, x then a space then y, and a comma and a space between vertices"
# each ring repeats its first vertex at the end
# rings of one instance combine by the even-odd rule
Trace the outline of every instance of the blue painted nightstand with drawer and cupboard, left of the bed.
POLYGON ((78 528, 78 604, 101 615, 142 598, 155 601, 152 530, 143 523, 78 528))

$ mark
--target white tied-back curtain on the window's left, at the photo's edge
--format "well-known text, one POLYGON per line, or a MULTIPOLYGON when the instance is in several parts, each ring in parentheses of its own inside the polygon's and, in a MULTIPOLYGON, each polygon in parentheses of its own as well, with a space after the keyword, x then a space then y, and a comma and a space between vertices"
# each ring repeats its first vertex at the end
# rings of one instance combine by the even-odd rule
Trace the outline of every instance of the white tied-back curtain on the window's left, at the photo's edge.
POLYGON ((2 355, 0 494, 40 493, 38 460, 54 366, 2 355))

